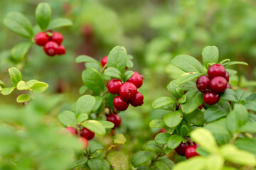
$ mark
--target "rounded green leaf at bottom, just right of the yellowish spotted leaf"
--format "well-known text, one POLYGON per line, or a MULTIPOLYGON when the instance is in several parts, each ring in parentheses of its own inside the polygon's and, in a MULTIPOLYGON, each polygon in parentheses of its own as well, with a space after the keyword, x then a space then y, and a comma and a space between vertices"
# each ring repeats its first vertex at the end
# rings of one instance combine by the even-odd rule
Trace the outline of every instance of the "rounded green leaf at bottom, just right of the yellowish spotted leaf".
POLYGON ((146 152, 146 151, 140 151, 132 156, 132 165, 134 167, 138 167, 153 158, 154 157, 152 156, 151 153, 146 152))

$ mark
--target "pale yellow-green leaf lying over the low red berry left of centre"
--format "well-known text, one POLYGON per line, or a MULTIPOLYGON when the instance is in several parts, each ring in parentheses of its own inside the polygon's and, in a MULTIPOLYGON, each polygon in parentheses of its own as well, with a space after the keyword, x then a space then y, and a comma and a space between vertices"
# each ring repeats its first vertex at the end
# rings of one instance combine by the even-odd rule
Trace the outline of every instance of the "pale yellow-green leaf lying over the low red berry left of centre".
POLYGON ((105 135, 106 130, 104 128, 104 126, 98 122, 97 120, 86 120, 84 123, 82 123, 82 125, 91 130, 92 132, 95 132, 99 135, 105 135))

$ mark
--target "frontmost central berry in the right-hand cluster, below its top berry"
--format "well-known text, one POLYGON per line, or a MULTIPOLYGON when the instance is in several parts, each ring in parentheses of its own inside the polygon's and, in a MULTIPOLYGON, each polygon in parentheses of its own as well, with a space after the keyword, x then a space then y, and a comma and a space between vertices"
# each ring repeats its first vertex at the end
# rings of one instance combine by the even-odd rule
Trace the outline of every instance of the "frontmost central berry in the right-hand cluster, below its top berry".
POLYGON ((228 82, 224 77, 214 77, 210 80, 210 89, 215 94, 221 94, 227 88, 228 82))

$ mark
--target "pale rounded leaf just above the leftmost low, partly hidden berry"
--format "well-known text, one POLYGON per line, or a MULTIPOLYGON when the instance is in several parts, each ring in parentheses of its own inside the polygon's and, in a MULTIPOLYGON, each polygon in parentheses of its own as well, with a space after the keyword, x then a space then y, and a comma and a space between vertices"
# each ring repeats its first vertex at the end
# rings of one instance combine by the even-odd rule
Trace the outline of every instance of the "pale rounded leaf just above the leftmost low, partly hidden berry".
POLYGON ((63 111, 62 113, 58 114, 58 120, 60 120, 60 123, 63 125, 69 127, 75 128, 77 125, 77 119, 75 118, 75 113, 72 111, 63 111))

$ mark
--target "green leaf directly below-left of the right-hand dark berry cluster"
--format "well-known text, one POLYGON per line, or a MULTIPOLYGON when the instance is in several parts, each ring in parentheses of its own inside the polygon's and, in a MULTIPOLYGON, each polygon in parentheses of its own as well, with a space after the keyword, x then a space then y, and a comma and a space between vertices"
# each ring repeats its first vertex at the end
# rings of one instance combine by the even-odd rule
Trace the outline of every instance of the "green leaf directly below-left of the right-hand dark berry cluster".
POLYGON ((203 93, 198 89, 192 89, 186 93, 186 102, 181 104, 183 113, 191 113, 203 103, 203 93))

